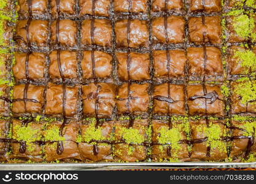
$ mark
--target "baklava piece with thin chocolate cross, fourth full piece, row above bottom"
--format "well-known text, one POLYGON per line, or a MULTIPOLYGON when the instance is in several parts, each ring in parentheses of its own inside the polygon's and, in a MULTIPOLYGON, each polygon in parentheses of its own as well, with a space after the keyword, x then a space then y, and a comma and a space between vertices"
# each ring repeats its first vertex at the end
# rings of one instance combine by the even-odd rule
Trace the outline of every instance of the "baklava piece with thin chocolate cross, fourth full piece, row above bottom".
POLYGON ((118 88, 118 96, 116 98, 118 113, 146 113, 150 103, 148 83, 128 85, 128 83, 124 83, 118 88))

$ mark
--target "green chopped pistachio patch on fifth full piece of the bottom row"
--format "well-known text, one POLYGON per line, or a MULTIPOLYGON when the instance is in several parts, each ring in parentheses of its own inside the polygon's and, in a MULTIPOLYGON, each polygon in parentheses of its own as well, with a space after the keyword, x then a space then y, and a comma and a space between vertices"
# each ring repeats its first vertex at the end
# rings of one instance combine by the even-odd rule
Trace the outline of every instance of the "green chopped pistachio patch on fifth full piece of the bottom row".
POLYGON ((158 142, 160 144, 171 144, 173 149, 180 150, 181 147, 178 142, 182 139, 182 134, 178 128, 162 127, 159 133, 158 142))

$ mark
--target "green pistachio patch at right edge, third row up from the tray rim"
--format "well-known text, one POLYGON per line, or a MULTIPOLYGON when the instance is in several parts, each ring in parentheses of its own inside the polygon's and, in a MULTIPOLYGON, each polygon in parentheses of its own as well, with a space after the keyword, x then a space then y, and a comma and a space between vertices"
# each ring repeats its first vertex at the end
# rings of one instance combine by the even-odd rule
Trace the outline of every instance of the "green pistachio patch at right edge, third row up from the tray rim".
POLYGON ((238 58, 237 62, 246 69, 245 74, 249 73, 249 69, 256 70, 256 55, 251 50, 236 51, 234 58, 238 58))

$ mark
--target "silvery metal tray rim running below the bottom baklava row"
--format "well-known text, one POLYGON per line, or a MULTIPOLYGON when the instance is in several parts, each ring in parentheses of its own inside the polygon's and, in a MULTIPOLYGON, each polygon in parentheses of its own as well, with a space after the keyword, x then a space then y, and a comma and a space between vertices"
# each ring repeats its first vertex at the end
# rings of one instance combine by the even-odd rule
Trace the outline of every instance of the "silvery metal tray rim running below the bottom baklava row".
POLYGON ((120 170, 120 169, 185 169, 256 167, 255 163, 60 163, 60 164, 0 164, 0 171, 54 171, 54 170, 120 170))

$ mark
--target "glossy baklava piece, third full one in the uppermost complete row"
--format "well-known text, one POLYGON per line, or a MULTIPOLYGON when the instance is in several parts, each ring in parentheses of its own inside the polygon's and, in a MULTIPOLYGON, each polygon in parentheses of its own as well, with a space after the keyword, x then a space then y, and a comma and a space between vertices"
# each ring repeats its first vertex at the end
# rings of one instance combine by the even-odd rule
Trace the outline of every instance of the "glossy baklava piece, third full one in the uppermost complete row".
POLYGON ((95 19, 94 29, 91 29, 93 20, 82 21, 81 43, 83 45, 100 45, 111 47, 112 28, 111 21, 105 19, 95 19), (93 31, 93 33, 91 33, 93 31))

